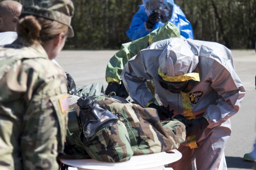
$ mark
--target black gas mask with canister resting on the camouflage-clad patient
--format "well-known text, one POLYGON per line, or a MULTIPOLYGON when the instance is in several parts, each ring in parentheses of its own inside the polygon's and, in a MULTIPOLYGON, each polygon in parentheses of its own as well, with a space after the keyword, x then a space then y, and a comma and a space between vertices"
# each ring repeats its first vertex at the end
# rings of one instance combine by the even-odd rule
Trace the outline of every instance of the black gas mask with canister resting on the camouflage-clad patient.
POLYGON ((80 108, 79 113, 76 110, 68 112, 68 129, 71 133, 82 131, 86 139, 118 121, 118 117, 106 107, 86 96, 80 97, 77 105, 80 108))

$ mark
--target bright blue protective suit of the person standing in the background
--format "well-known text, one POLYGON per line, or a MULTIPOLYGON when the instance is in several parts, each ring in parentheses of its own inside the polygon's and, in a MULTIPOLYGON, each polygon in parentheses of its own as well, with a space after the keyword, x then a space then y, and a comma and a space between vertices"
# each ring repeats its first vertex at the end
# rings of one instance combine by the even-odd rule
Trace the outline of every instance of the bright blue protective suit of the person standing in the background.
MULTIPOLYGON (((169 22, 174 23, 180 29, 180 35, 185 38, 194 39, 194 33, 192 29, 192 25, 186 19, 185 14, 182 12, 180 7, 176 4, 173 5, 172 17, 169 22)), ((130 40, 134 41, 138 38, 144 37, 149 34, 150 31, 146 30, 145 22, 148 19, 148 16, 145 12, 144 5, 139 5, 139 10, 134 14, 132 18, 132 22, 130 24, 130 28, 126 31, 126 34, 130 38, 130 40)), ((157 22, 152 30, 155 30, 164 25, 162 22, 157 22)))

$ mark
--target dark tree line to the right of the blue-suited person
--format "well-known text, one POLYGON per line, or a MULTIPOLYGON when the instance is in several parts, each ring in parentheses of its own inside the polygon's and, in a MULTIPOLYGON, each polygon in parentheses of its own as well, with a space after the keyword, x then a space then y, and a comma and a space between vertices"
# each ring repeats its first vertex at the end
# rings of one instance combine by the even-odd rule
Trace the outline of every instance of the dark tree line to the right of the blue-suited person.
POLYGON ((195 39, 216 41, 230 49, 255 45, 255 0, 179 0, 195 39))

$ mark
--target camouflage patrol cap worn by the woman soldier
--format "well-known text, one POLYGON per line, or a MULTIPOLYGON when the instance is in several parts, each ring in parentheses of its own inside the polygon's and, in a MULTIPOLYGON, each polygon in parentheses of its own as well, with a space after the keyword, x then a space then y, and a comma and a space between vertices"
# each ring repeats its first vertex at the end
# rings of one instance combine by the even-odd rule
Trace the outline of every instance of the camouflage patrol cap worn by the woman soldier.
POLYGON ((71 0, 23 0, 22 14, 34 15, 68 25, 68 37, 74 36, 71 18, 74 5, 71 0))

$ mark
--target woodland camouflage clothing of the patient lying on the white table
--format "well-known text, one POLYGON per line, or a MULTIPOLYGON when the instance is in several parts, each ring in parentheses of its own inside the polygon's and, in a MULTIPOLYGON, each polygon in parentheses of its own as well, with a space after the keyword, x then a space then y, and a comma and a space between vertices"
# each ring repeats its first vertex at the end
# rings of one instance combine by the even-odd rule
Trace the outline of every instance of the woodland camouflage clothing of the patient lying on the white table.
MULTIPOLYGON (((64 155, 73 154, 78 158, 85 150, 91 158, 99 161, 123 162, 130 159, 130 150, 132 155, 152 154, 177 149, 185 141, 184 124, 175 119, 161 123, 155 109, 125 104, 106 96, 90 98, 117 115, 120 121, 102 129, 88 141, 81 132, 67 135, 65 147, 69 150, 65 149, 64 155), (111 135, 115 135, 118 145, 110 145, 111 135)), ((76 104, 70 106, 70 110, 74 109, 79 113, 76 104)))

